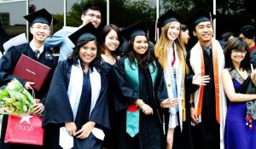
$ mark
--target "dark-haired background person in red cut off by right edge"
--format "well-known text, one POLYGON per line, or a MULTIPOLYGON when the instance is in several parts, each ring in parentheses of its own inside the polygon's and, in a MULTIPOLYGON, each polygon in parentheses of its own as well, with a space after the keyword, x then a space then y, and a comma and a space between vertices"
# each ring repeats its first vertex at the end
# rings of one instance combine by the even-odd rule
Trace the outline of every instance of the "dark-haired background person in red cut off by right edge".
POLYGON ((250 52, 250 62, 256 67, 256 30, 254 26, 242 26, 239 32, 239 37, 247 43, 250 52))

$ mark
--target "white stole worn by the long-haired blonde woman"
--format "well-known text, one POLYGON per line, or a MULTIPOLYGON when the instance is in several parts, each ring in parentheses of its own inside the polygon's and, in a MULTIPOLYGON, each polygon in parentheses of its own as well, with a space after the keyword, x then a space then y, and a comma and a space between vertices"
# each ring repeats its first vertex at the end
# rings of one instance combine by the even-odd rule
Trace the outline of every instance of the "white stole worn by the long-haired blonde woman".
MULTIPOLYGON (((174 55, 175 55, 175 63, 173 65, 173 68, 176 70, 176 89, 177 89, 177 98, 179 100, 184 100, 183 99, 183 66, 180 64, 180 61, 178 59, 177 55, 177 46, 175 43, 174 44, 174 55)), ((172 61, 170 60, 172 53, 169 50, 166 50, 166 60, 167 60, 167 67, 164 72, 165 76, 165 81, 166 81, 166 87, 167 87, 167 92, 168 92, 168 98, 173 99, 173 93, 172 93, 172 76, 173 76, 173 70, 172 70, 172 61), (171 84, 171 86, 169 85, 171 84)), ((183 106, 182 106, 182 101, 179 101, 177 104, 178 108, 178 115, 179 115, 179 123, 180 123, 180 128, 181 130, 183 129, 183 106)), ((176 113, 176 107, 170 107, 169 108, 170 112, 170 120, 169 123, 173 123, 172 127, 176 127, 177 123, 175 123, 176 118, 177 118, 177 113, 176 113), (174 113, 175 112, 175 113, 174 113)), ((170 124, 169 124, 170 125, 170 124)))

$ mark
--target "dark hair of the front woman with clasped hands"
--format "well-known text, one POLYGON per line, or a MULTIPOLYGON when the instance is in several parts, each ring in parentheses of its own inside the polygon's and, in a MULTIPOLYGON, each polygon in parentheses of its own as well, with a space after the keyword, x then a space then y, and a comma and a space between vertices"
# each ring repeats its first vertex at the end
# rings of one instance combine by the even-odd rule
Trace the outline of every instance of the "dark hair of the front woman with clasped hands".
MULTIPOLYGON (((101 59, 101 49, 100 49, 99 43, 96 41, 96 39, 94 39, 94 40, 88 40, 88 39, 87 40, 86 39, 79 40, 76 43, 76 46, 74 47, 72 54, 67 57, 67 61, 69 61, 73 64, 79 64, 79 61, 78 61, 78 60, 80 60, 79 50, 84 44, 89 43, 90 41, 95 42, 96 48, 97 48, 96 58, 90 62, 90 69, 92 70, 92 67, 95 66, 96 69, 99 71, 99 69, 101 68, 102 59, 101 59)), ((83 68, 83 66, 82 66, 82 68, 83 68)))

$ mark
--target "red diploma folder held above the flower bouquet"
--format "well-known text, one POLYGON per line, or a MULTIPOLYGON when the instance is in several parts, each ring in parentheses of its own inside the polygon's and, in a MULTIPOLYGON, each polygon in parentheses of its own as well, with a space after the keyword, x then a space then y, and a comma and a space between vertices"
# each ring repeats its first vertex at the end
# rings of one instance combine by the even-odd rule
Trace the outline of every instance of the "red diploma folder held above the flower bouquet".
POLYGON ((37 60, 21 54, 13 74, 26 82, 35 83, 32 88, 39 91, 49 73, 50 68, 39 63, 37 60))

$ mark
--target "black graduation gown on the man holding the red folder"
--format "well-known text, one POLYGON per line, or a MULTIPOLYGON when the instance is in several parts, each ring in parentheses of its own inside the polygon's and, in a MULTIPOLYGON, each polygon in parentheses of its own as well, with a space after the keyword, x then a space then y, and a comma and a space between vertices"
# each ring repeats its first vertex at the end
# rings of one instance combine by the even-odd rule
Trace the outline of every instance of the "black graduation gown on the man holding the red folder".
MULTIPOLYGON (((20 59, 20 55, 25 54, 26 56, 32 58, 33 60, 37 60, 38 62, 44 64, 45 66, 49 66, 50 71, 49 75, 46 77, 44 84, 40 91, 35 91, 36 99, 41 99, 40 102, 44 104, 44 100, 48 93, 49 83, 51 81, 53 72, 55 71, 55 66, 57 65, 57 59, 53 56, 52 51, 49 49, 44 49, 43 53, 40 54, 39 58, 37 59, 35 54, 33 53, 32 49, 30 48, 29 43, 24 43, 15 47, 11 47, 6 54, 0 59, 0 86, 9 83, 11 79, 15 76, 12 74, 17 61, 20 59)), ((20 77, 17 78, 20 83, 24 86, 26 81, 21 79, 20 77)), ((29 90, 31 91, 31 90, 29 90)), ((5 131, 7 128, 8 123, 8 116, 3 116, 2 122, 2 129, 1 129, 1 141, 0 141, 0 148, 1 149, 11 149, 11 148, 42 148, 41 146, 27 146, 27 145, 20 145, 20 144, 11 144, 11 143, 4 143, 5 131)))

